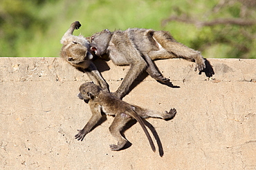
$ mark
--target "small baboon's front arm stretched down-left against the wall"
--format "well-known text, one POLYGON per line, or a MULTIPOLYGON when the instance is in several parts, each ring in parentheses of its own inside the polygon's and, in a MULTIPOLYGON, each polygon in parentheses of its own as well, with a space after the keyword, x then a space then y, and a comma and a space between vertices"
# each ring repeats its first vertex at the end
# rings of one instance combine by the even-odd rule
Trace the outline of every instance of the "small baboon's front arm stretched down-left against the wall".
POLYGON ((75 138, 77 140, 81 140, 81 141, 84 140, 84 136, 86 136, 86 134, 88 134, 91 131, 91 129, 96 125, 96 123, 100 121, 100 118, 102 118, 100 109, 91 108, 91 111, 92 111, 92 116, 88 121, 88 123, 86 123, 86 125, 82 130, 77 129, 77 131, 79 131, 78 134, 75 135, 75 138))

